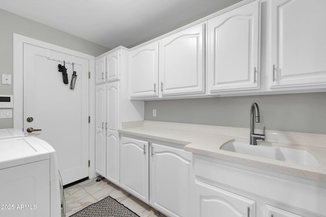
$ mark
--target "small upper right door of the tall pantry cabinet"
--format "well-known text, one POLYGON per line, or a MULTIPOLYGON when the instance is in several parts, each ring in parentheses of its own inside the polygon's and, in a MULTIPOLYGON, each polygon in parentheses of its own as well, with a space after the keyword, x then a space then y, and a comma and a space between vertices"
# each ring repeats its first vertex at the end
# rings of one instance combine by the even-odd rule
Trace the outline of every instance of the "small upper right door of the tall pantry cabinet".
POLYGON ((120 79, 121 50, 106 55, 106 81, 120 79))

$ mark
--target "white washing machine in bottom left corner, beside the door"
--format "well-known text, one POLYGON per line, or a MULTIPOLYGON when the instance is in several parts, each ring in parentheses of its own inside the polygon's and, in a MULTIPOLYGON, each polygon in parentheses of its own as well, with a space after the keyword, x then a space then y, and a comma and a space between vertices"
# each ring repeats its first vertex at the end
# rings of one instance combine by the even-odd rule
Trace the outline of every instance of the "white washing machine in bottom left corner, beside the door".
POLYGON ((22 131, 0 130, 0 216, 65 216, 55 149, 22 131))

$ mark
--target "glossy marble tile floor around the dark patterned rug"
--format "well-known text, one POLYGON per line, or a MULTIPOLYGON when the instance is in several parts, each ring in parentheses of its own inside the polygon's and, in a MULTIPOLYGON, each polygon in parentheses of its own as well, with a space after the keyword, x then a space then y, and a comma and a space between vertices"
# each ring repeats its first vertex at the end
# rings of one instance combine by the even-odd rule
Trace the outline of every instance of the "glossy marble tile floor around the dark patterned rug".
POLYGON ((166 215, 125 192, 117 185, 102 179, 88 179, 64 189, 66 199, 66 217, 85 207, 111 196, 141 217, 166 217, 166 215))

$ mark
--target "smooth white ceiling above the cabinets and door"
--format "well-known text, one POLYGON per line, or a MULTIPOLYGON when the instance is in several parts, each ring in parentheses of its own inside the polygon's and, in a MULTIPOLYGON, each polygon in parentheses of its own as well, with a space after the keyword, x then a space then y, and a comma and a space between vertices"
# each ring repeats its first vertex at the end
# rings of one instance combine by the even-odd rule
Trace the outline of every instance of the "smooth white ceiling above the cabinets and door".
POLYGON ((108 48, 129 47, 240 0, 0 0, 0 8, 108 48))

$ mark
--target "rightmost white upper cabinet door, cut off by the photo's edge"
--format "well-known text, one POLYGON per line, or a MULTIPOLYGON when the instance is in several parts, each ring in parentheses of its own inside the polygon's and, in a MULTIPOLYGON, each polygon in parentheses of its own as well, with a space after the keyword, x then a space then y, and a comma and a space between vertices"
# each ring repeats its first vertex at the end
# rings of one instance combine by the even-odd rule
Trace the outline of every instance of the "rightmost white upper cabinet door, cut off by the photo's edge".
POLYGON ((271 87, 326 84, 326 1, 271 1, 271 87))

